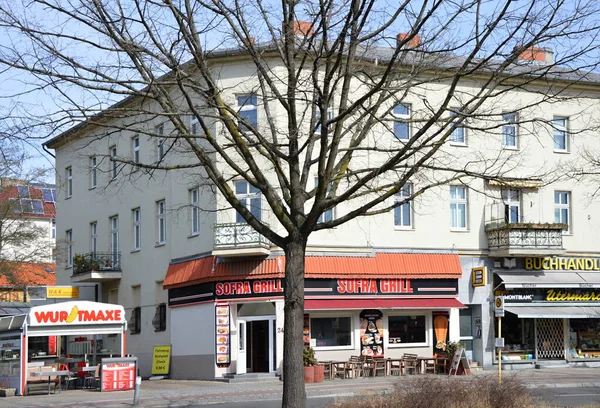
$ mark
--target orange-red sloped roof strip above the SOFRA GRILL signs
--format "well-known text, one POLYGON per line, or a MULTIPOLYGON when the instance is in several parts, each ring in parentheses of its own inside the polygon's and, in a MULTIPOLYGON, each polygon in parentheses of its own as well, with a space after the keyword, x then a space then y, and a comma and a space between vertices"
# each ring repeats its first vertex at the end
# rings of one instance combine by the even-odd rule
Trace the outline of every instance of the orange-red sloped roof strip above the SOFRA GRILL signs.
MULTIPOLYGON (((169 265, 165 288, 198 283, 283 278, 285 258, 218 262, 214 256, 169 265)), ((374 257, 307 256, 306 278, 412 278, 458 279, 462 268, 458 255, 379 253, 374 257)))

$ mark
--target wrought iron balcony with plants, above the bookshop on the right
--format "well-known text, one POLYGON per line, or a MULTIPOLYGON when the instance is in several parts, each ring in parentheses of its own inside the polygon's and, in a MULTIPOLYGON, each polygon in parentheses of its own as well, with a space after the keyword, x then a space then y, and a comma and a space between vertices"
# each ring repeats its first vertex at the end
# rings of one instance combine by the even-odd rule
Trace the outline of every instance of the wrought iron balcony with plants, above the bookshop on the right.
POLYGON ((486 225, 490 256, 551 256, 563 255, 565 224, 508 223, 486 225))

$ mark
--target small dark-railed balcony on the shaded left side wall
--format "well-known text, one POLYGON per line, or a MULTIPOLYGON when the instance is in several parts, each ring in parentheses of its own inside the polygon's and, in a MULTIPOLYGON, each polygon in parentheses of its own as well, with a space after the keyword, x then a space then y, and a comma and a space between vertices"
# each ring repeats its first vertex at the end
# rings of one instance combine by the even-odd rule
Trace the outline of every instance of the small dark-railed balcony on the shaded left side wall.
POLYGON ((121 279, 119 252, 90 252, 73 258, 73 283, 109 282, 121 279))

